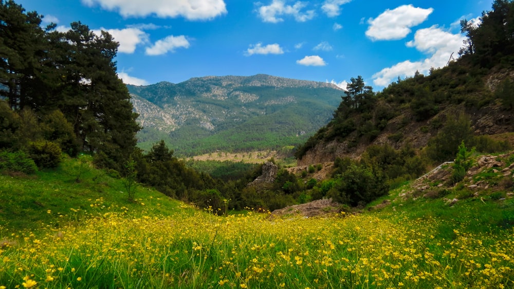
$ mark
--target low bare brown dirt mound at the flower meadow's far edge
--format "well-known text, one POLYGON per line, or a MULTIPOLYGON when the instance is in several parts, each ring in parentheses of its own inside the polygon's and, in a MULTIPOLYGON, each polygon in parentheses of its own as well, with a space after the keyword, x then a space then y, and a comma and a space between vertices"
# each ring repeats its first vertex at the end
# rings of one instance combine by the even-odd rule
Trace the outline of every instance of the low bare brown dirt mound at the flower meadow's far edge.
POLYGON ((271 212, 271 216, 304 216, 315 217, 327 214, 339 213, 341 204, 332 199, 316 200, 305 204, 287 206, 271 212))

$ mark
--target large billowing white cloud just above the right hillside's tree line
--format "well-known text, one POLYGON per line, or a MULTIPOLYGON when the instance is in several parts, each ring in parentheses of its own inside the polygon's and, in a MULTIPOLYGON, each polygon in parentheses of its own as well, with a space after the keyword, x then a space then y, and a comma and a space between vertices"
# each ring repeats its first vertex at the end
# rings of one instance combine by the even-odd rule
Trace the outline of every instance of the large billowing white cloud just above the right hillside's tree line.
POLYGON ((373 84, 387 86, 398 76, 412 76, 416 70, 427 74, 431 67, 444 67, 452 52, 457 52, 462 47, 464 40, 465 37, 462 34, 452 34, 437 26, 419 29, 414 35, 414 40, 409 41, 407 46, 414 47, 418 51, 428 54, 429 57, 416 62, 406 60, 384 68, 373 74, 373 84))

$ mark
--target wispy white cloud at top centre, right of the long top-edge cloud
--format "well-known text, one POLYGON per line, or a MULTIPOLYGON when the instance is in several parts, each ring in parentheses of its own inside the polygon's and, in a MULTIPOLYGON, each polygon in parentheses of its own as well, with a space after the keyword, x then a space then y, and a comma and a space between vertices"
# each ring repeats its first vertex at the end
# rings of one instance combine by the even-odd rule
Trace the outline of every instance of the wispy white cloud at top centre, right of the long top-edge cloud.
POLYGON ((295 4, 286 5, 284 0, 273 0, 270 5, 262 5, 258 9, 259 16, 264 22, 279 23, 284 21, 280 16, 290 15, 295 17, 298 22, 305 22, 311 20, 316 13, 314 10, 301 10, 306 6, 303 2, 296 2, 295 4))

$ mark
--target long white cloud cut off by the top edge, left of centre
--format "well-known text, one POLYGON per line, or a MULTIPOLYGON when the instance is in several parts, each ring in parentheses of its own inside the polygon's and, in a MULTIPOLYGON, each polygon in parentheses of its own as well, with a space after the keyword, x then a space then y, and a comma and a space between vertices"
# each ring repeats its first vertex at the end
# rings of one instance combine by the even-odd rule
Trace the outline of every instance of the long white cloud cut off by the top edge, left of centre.
POLYGON ((183 16, 188 20, 208 20, 227 13, 223 0, 82 0, 87 6, 100 5, 118 11, 123 17, 183 16))

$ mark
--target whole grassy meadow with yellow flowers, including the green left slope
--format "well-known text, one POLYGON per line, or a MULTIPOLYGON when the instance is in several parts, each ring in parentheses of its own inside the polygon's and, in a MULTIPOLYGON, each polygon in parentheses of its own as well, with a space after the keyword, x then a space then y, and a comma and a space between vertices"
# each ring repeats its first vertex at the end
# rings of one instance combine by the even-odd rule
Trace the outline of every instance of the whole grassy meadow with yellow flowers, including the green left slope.
MULTIPOLYGON (((0 175, 0 288, 513 288, 514 199, 217 216, 67 160, 0 175)), ((449 196, 448 196, 449 197, 449 196)), ((373 205, 373 204, 372 204, 373 205)))

